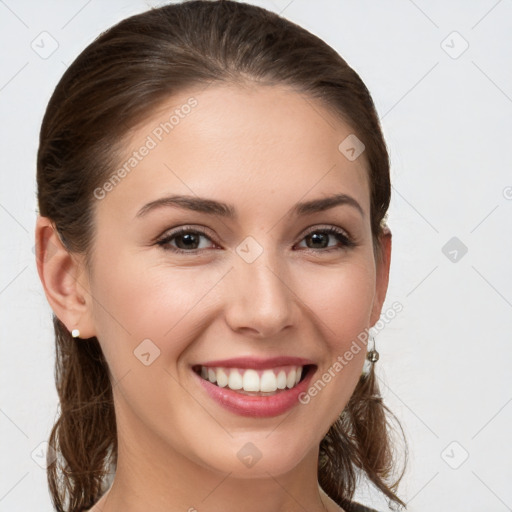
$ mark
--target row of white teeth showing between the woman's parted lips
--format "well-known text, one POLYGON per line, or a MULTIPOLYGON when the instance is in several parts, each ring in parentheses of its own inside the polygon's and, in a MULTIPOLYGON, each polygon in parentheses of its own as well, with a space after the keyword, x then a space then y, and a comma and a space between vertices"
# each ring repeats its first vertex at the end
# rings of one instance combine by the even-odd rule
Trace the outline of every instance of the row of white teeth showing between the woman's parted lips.
POLYGON ((314 368, 311 364, 279 366, 265 370, 201 365, 192 367, 195 373, 211 384, 249 396, 271 396, 293 389, 314 368))

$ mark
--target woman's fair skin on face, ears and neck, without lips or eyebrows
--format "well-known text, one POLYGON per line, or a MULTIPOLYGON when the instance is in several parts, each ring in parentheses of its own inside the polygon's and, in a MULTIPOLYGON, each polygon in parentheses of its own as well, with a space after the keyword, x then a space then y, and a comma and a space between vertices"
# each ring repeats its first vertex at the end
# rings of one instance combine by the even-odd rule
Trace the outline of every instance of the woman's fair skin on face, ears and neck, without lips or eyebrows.
POLYGON ((93 199, 91 269, 66 252, 49 219, 37 221, 48 301, 70 331, 98 338, 115 382, 118 467, 91 511, 342 510, 319 488, 318 446, 355 389, 365 350, 309 404, 272 418, 225 410, 190 367, 289 355, 312 359, 316 380, 375 324, 391 233, 376 261, 364 153, 345 158, 338 145, 352 130, 317 100, 285 86, 224 84, 170 98, 133 130, 127 156, 191 96, 198 101, 192 112, 105 198, 93 199), (290 213, 297 202, 334 193, 352 196, 363 215, 349 205, 290 213), (230 203, 237 218, 176 207, 135 218, 171 194, 230 203), (207 230, 195 254, 155 243, 183 225, 207 230), (332 250, 315 248, 305 235, 316 226, 337 226, 356 245, 328 235, 332 250), (263 249, 252 263, 236 252, 247 236, 263 249), (160 350, 149 366, 133 353, 144 339, 160 350), (237 457, 248 442, 262 454, 250 468, 237 457))

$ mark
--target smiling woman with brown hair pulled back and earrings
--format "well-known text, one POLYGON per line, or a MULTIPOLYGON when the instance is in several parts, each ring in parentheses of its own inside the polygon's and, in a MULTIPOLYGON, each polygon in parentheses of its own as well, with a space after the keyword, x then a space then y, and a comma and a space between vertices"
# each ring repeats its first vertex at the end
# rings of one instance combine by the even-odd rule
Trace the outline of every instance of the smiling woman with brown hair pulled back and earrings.
POLYGON ((388 155, 332 48, 231 1, 128 18, 57 85, 37 182, 57 510, 371 510, 363 475, 404 505, 367 350, 388 155))

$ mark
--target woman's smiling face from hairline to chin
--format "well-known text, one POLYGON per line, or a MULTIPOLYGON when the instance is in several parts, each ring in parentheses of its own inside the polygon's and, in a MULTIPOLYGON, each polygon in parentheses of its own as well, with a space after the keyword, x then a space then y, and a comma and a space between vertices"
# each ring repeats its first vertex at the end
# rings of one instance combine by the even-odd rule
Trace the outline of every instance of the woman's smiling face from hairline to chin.
POLYGON ((82 282, 120 454, 239 477, 316 461, 387 286, 364 152, 339 149, 351 133, 285 87, 227 85, 173 97, 132 133, 124 172, 95 192, 82 282))

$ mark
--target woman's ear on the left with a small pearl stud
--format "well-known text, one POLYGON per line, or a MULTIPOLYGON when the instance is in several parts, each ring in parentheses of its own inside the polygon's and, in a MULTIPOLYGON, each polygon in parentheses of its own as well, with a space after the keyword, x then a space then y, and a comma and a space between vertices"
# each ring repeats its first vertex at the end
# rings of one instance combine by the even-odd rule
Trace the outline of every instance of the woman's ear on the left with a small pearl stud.
POLYGON ((80 338, 95 336, 83 258, 66 249, 47 217, 37 219, 35 242, 37 272, 53 312, 70 332, 79 329, 80 338))

